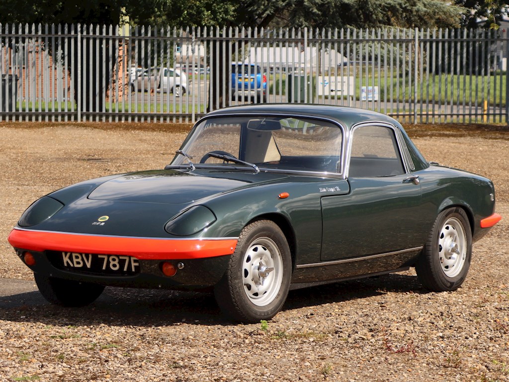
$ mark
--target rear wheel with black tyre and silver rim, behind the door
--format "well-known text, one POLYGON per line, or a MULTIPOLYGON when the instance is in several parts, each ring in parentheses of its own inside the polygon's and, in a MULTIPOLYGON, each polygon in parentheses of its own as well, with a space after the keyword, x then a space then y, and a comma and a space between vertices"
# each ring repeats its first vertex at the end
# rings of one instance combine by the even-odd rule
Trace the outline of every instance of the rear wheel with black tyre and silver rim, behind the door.
POLYGON ((442 211, 415 264, 417 278, 434 292, 458 289, 467 277, 472 257, 472 231, 465 211, 442 211))

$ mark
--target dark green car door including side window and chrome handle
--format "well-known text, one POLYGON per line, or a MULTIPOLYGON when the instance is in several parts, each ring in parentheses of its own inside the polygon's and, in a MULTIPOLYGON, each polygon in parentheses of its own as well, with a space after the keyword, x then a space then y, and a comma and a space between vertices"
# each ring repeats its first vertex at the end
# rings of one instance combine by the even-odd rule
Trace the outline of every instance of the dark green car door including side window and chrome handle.
POLYGON ((415 249, 423 243, 421 186, 401 154, 404 142, 391 125, 352 130, 348 195, 321 198, 321 260, 415 249))

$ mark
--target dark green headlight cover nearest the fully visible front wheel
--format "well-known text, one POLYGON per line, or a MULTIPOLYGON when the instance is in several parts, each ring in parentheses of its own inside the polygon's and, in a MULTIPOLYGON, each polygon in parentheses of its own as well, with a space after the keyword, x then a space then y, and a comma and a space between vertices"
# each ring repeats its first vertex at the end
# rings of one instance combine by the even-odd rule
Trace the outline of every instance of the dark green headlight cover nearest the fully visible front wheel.
POLYGON ((174 216, 164 230, 175 236, 189 236, 209 227, 216 221, 214 212, 205 206, 194 206, 174 216))

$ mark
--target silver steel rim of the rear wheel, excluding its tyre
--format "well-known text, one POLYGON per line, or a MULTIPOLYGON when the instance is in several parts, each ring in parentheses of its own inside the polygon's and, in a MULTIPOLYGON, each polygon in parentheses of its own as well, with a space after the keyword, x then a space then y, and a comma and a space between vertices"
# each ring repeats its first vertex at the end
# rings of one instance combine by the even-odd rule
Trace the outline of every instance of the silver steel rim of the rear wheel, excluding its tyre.
POLYGON ((467 257, 467 236, 456 217, 447 219, 440 230, 438 257, 445 276, 453 278, 460 274, 467 257))

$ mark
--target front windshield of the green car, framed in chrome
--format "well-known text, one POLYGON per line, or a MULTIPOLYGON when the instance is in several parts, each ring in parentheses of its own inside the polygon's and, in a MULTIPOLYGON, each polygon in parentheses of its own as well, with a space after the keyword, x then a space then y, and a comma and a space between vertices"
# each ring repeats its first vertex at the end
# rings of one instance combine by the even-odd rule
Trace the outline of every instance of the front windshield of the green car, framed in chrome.
MULTIPOLYGON (((343 130, 320 119, 232 116, 203 120, 181 150, 196 167, 239 167, 239 159, 260 170, 341 173, 343 130)), ((189 166, 177 155, 174 166, 189 166)), ((240 167, 248 165, 240 164, 240 167)))

